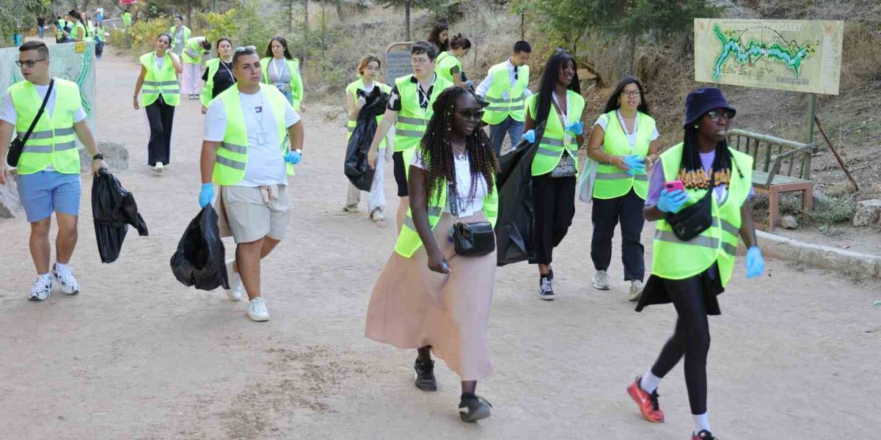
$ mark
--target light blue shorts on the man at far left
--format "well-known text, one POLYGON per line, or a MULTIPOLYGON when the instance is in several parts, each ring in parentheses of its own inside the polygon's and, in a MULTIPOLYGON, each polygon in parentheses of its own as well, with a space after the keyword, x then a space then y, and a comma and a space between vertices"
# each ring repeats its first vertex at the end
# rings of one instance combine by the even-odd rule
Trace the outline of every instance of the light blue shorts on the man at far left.
POLYGON ((19 199, 28 222, 39 222, 51 216, 52 211, 79 215, 79 196, 82 193, 79 173, 41 171, 19 174, 18 184, 19 199))

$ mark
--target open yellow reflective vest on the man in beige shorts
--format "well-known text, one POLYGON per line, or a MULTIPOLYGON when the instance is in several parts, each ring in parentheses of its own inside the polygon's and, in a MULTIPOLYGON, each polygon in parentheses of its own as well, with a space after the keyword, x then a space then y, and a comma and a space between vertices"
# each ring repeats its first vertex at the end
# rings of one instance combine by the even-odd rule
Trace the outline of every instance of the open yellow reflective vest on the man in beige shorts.
MULTIPOLYGON (((278 154, 284 156, 288 150, 287 128, 285 127, 285 107, 287 99, 278 89, 267 84, 260 84, 260 91, 270 102, 272 114, 275 116, 278 129, 278 154)), ((241 111, 239 88, 230 87, 217 98, 226 107, 226 131, 223 142, 218 148, 217 162, 214 164, 212 180, 223 186, 233 186, 245 178, 248 167, 248 129, 245 125, 245 114, 241 111)), ((287 165, 287 175, 293 175, 293 165, 287 165)))

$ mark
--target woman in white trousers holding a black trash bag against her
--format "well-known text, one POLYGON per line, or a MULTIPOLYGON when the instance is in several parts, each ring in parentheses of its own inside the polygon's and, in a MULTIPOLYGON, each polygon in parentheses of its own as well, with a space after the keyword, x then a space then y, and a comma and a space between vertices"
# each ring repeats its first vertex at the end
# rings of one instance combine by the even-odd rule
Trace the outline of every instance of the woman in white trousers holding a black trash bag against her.
MULTIPOLYGON (((385 220, 385 192, 383 190, 382 161, 377 161, 375 170, 370 169, 366 163, 367 150, 374 140, 376 128, 385 114, 385 106, 389 103, 391 87, 376 81, 381 69, 381 61, 376 55, 365 55, 358 63, 359 79, 345 88, 345 104, 349 111, 349 121, 346 123, 346 141, 348 148, 345 152, 345 174, 351 180, 349 190, 346 193, 346 212, 359 212, 358 203, 361 200, 361 191, 368 191, 367 211, 374 222, 385 220), (352 141, 352 137, 355 141, 352 141), (364 158, 354 155, 356 151, 363 151, 364 158), (350 165, 351 168, 350 168, 350 165), (360 180, 361 183, 356 184, 360 180)), ((392 145, 393 130, 380 144, 380 156, 385 161, 391 162, 392 150, 387 148, 392 145)))

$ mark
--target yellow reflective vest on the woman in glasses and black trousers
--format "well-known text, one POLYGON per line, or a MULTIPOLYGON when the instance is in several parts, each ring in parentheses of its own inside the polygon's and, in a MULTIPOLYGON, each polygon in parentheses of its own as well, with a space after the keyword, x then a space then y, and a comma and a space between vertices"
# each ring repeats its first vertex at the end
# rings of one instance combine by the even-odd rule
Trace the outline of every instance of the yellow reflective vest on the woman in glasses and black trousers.
MULTIPOLYGON (((651 143, 652 133, 655 132, 655 120, 644 113, 637 113, 636 144, 633 150, 627 142, 627 135, 618 120, 618 111, 613 110, 605 114, 606 129, 603 135, 603 151, 613 156, 639 155, 640 158, 648 156, 648 144, 651 143)), ((631 176, 622 171, 618 166, 601 163, 596 167, 596 182, 594 183, 594 198, 614 199, 630 192, 630 188, 642 200, 648 196, 648 173, 631 176)))

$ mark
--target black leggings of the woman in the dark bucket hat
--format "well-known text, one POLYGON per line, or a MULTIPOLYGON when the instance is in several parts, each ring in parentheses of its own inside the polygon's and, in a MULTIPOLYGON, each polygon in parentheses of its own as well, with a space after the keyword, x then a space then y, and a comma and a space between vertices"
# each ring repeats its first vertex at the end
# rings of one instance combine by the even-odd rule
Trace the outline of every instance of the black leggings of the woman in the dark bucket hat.
POLYGON ((710 349, 710 327, 704 284, 700 275, 685 280, 663 280, 679 318, 676 332, 663 346, 652 366, 652 374, 663 378, 685 356, 685 386, 692 414, 707 412, 707 352, 710 349))

